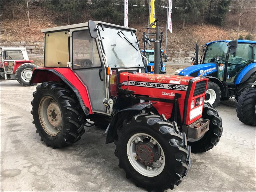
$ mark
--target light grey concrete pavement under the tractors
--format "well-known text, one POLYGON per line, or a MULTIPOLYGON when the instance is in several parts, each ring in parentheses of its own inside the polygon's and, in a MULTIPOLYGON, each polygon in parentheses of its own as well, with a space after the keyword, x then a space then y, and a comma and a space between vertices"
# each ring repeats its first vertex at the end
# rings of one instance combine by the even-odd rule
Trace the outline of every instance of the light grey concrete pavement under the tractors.
MULTIPOLYGON (((30 114, 36 87, 1 80, 1 191, 146 191, 125 178, 105 136, 85 133, 72 146, 52 149, 40 141, 30 114)), ((241 123, 234 107, 217 107, 220 142, 191 154, 183 182, 167 191, 255 191, 255 126, 241 123)))

